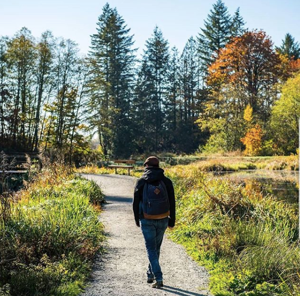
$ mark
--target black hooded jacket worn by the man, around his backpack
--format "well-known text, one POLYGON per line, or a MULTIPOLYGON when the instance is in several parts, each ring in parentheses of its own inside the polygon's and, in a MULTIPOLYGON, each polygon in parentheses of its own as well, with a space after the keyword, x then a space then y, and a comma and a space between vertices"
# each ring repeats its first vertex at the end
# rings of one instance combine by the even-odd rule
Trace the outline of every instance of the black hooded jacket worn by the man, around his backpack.
POLYGON ((168 222, 168 226, 174 227, 175 226, 175 194, 174 194, 174 187, 172 181, 167 178, 163 174, 164 170, 162 168, 157 167, 148 167, 145 168, 144 173, 141 178, 139 178, 135 185, 135 192, 134 192, 134 200, 133 200, 133 210, 135 215, 136 224, 139 226, 140 221, 139 219, 144 218, 143 214, 139 214, 139 205, 140 202, 143 200, 143 189, 145 182, 151 183, 153 185, 158 185, 158 181, 162 180, 165 184, 169 205, 170 205, 170 218, 168 222))

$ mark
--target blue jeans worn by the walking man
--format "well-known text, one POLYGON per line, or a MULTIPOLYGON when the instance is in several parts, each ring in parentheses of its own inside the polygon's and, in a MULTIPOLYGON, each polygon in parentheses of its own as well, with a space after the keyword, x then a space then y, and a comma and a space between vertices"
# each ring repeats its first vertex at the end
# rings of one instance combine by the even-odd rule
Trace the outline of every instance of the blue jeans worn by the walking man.
POLYGON ((162 272, 159 265, 160 246, 163 234, 168 225, 168 217, 162 219, 141 219, 141 230, 144 235, 149 266, 147 271, 148 278, 155 278, 162 281, 162 272))

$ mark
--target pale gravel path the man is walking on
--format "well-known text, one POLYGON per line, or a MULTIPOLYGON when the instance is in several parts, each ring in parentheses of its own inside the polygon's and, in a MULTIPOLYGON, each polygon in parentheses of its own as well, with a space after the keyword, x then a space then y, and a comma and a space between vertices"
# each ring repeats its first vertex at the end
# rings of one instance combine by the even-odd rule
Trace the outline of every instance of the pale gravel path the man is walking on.
POLYGON ((106 195, 100 220, 108 235, 107 254, 95 262, 82 296, 208 295, 208 274, 184 248, 164 237, 160 264, 163 289, 147 284, 148 258, 141 229, 135 225, 132 196, 136 178, 123 175, 82 175, 95 180, 106 195))

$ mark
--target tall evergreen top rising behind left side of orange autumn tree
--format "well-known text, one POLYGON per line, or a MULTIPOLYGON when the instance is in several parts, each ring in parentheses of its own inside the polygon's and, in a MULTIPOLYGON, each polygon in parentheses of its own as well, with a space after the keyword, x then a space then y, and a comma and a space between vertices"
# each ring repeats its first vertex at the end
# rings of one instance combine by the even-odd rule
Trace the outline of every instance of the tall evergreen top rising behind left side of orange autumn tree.
POLYGON ((221 48, 226 45, 231 37, 231 17, 222 0, 218 0, 212 6, 201 31, 198 36, 198 51, 203 66, 206 68, 216 60, 221 48))

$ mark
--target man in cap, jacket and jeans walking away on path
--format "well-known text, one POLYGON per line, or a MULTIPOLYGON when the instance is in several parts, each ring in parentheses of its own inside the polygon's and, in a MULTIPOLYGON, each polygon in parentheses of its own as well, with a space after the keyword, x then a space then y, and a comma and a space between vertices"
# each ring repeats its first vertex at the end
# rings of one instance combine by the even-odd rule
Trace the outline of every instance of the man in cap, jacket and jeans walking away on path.
POLYGON ((149 266, 147 282, 153 288, 163 287, 159 265, 160 246, 168 227, 175 225, 175 194, 172 181, 159 167, 159 160, 150 156, 144 162, 144 173, 135 185, 133 210, 136 225, 144 235, 149 266))

